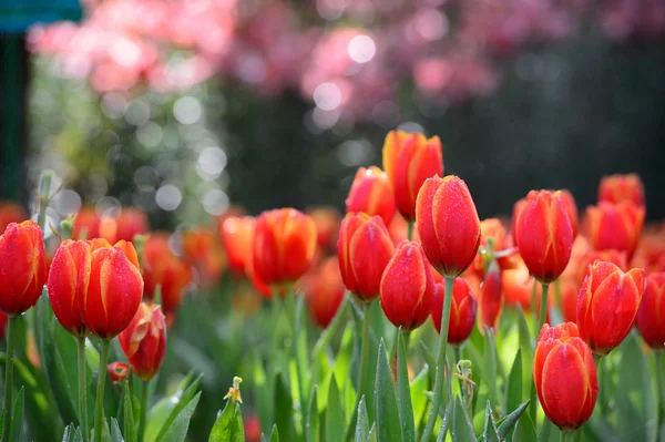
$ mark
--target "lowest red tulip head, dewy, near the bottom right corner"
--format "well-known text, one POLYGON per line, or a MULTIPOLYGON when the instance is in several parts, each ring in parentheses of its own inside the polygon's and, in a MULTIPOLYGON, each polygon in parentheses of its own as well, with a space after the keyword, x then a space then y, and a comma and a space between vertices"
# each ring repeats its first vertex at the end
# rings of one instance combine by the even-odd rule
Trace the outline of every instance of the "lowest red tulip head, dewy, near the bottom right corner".
POLYGON ((548 419, 570 432, 591 418, 598 384, 591 350, 577 327, 544 325, 533 358, 535 391, 548 419))

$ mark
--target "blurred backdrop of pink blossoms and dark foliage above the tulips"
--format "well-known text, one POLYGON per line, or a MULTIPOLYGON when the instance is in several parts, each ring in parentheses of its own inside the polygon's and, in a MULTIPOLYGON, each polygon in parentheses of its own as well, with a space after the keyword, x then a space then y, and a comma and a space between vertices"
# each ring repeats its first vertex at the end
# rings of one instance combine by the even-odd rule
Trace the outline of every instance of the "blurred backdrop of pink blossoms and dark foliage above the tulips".
POLYGON ((73 191, 63 213, 134 205, 154 228, 231 204, 341 209, 401 127, 441 137, 481 218, 531 188, 584 207, 617 172, 665 215, 662 0, 50 4, 32 13, 76 22, 17 25, 27 12, 0 9, 2 198, 28 201, 50 167, 73 191))

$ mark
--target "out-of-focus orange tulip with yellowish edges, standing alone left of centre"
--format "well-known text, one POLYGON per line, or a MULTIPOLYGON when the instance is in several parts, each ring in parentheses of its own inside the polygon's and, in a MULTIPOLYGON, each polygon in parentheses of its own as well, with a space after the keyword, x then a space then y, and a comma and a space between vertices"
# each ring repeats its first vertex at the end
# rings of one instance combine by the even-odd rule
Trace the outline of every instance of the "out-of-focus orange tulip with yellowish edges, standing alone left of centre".
POLYGON ((254 271, 267 285, 295 282, 311 266, 316 225, 295 208, 264 212, 256 218, 254 271))

